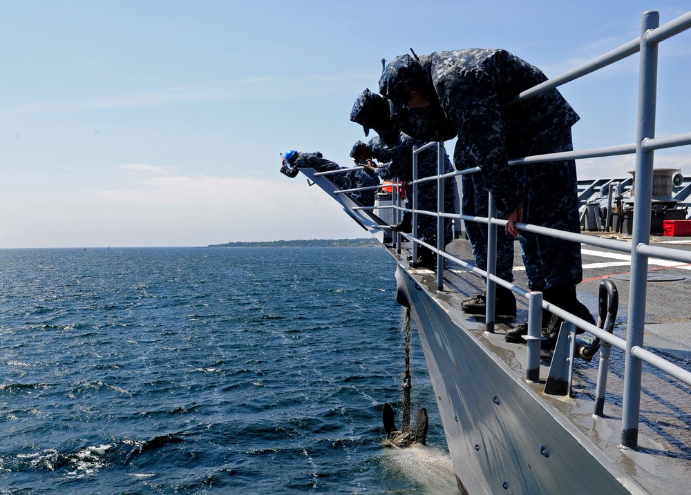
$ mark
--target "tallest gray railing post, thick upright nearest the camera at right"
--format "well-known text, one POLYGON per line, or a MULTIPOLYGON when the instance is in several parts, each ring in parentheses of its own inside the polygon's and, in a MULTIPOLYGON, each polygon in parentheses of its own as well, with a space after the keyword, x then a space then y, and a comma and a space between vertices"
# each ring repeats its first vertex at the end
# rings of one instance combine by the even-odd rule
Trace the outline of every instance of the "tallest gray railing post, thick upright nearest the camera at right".
POLYGON ((650 243, 652 204, 653 151, 645 151, 645 139, 655 137, 657 93, 657 45, 646 41, 647 32, 660 26, 658 12, 645 12, 641 26, 641 62, 638 79, 638 130, 636 135, 636 200, 631 257, 631 291, 626 332, 624 369, 624 401, 621 422, 623 447, 638 447, 638 418, 641 407, 642 362, 632 354, 634 347, 643 347, 645 331, 645 291, 647 256, 638 252, 640 244, 650 243))

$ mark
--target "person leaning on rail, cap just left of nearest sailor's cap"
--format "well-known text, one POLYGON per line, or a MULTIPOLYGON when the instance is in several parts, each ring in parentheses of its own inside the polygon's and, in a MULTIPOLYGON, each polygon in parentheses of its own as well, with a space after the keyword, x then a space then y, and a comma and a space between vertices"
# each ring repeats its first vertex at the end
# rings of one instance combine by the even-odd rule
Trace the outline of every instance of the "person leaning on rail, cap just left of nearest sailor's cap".
MULTIPOLYGON (((370 93, 366 90, 365 95, 361 95, 355 101, 350 119, 353 122, 363 125, 365 133, 369 132, 369 128, 382 128, 386 125, 391 125, 390 117, 388 116, 388 104, 379 95, 370 93)), ((357 142, 351 152, 351 156, 357 160, 365 162, 368 168, 376 171, 377 175, 382 179, 398 178, 401 182, 410 183, 413 180, 413 147, 423 146, 425 141, 414 139, 406 133, 402 133, 397 128, 391 127, 388 132, 385 130, 382 133, 384 138, 373 137, 368 144, 357 142), (394 139, 394 137, 396 139, 394 139), (375 167, 372 158, 380 162, 380 166, 375 167)), ((437 175, 437 149, 429 148, 418 156, 417 161, 417 175, 418 178, 430 177, 437 175)), ((444 153, 444 173, 453 172, 451 160, 448 155, 444 153)), ((411 209, 412 204, 410 198, 412 197, 412 188, 408 188, 406 194, 406 209, 411 209)), ((444 179, 444 211, 452 213, 454 211, 454 197, 455 197, 455 181, 449 177, 444 179)), ((437 182, 430 181, 418 185, 417 188, 417 208, 424 211, 437 211, 437 182)), ((407 213, 407 212, 406 212, 407 213)), ((437 246, 437 218, 431 215, 420 213, 417 215, 417 235, 423 242, 431 246, 437 246)), ((393 231, 410 231, 410 215, 404 215, 401 223, 392 226, 393 231)), ((444 219, 444 246, 453 240, 453 230, 451 226, 451 219, 444 219)), ((421 246, 419 249, 419 257, 415 260, 416 267, 434 268, 436 266, 436 255, 433 251, 421 246)))

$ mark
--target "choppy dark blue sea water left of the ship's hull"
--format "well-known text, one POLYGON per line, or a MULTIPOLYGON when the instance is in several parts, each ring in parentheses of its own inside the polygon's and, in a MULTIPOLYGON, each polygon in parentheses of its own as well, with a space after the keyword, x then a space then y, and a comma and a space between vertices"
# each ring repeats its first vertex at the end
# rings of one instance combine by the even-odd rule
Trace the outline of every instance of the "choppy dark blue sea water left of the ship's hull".
POLYGON ((455 493, 377 248, 0 250, 0 493, 455 493))

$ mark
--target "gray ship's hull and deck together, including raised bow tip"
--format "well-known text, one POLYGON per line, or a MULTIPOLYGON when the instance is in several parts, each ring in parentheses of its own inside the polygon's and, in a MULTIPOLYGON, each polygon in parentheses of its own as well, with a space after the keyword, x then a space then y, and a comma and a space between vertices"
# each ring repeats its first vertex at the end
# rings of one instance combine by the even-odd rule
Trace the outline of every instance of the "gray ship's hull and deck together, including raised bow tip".
MULTIPOLYGON (((465 297, 484 290, 482 278, 468 266, 446 260, 442 289, 437 289, 435 271, 415 269, 408 262, 410 242, 393 242, 386 222, 378 215, 335 193, 333 185, 312 169, 301 172, 341 203, 397 262, 397 300, 410 307, 417 324, 460 492, 688 494, 691 429, 685 411, 691 407, 691 391, 687 387, 669 380, 665 373, 648 370, 642 384, 645 393, 638 448, 622 447, 623 353, 612 352, 609 358, 603 414, 594 415, 598 369, 602 367, 596 359, 575 360, 570 394, 545 393, 551 353, 542 353, 539 379, 529 381, 525 344, 504 340, 504 331, 527 320, 527 304, 522 298, 515 319, 497 318, 490 325, 495 331, 486 331, 484 316, 465 313, 461 307, 465 297)), ((672 242, 678 249, 691 249, 691 238, 672 242)), ((454 240, 445 251, 455 260, 472 262, 466 240, 454 240)), ((669 275, 676 275, 670 280, 677 282, 659 289, 650 287, 647 318, 659 323, 654 330, 646 329, 645 343, 687 367, 691 333, 681 327, 688 321, 688 311, 674 301, 691 297, 691 285, 685 284, 691 268, 675 262, 650 262, 652 271, 659 274, 659 265, 669 275), (676 297, 670 298, 670 293, 676 297)), ((600 282, 616 278, 612 270, 629 270, 630 258, 622 260, 607 249, 589 246, 583 249, 583 269, 579 299, 595 313, 600 282)), ((515 250, 514 275, 515 284, 524 287, 520 249, 515 250)), ((627 300, 627 283, 618 282, 621 300, 627 300)), ((620 305, 618 314, 615 333, 623 337, 627 308, 620 305)))

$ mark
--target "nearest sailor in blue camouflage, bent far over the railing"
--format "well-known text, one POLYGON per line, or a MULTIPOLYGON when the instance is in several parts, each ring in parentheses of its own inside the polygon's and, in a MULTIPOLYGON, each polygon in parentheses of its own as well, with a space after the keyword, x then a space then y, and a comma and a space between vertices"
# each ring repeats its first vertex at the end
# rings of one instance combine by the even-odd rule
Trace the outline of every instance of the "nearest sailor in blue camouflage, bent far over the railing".
POLYGON ((507 233, 519 237, 529 288, 594 322, 576 298, 576 284, 583 278, 580 244, 528 232, 519 236, 515 228, 515 222, 527 222, 580 232, 575 162, 508 165, 509 158, 571 151, 576 112, 556 89, 509 105, 516 95, 547 77, 506 50, 413 55, 388 64, 379 79, 379 93, 397 108, 443 110, 458 138, 454 159, 466 167, 480 167, 508 220, 507 233))

